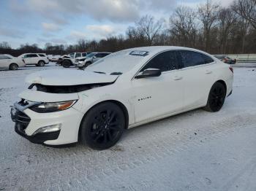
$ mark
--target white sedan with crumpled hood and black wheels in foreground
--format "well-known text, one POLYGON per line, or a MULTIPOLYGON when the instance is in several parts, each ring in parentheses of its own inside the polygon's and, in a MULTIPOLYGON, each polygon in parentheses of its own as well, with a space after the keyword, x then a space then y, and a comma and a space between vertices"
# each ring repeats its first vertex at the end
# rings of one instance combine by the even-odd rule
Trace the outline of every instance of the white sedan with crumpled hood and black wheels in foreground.
POLYGON ((107 149, 126 128, 200 107, 218 112, 232 93, 233 69, 200 50, 137 47, 84 71, 39 71, 26 82, 11 110, 20 136, 107 149))

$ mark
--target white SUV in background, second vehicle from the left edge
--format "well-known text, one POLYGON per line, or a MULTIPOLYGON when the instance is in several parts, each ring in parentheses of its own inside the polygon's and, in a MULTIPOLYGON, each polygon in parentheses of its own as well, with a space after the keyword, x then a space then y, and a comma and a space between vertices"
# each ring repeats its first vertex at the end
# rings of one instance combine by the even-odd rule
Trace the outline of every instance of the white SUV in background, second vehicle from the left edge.
POLYGON ((26 65, 45 66, 49 63, 49 59, 45 53, 26 53, 19 55, 26 65))

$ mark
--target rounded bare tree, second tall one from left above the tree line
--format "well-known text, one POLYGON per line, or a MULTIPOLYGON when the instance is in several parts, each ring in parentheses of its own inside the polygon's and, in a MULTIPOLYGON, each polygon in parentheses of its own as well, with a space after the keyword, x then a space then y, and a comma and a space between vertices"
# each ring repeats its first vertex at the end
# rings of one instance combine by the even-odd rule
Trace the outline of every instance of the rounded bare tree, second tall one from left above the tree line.
POLYGON ((195 47, 197 36, 195 11, 190 7, 177 7, 170 17, 170 33, 176 36, 178 45, 195 47))

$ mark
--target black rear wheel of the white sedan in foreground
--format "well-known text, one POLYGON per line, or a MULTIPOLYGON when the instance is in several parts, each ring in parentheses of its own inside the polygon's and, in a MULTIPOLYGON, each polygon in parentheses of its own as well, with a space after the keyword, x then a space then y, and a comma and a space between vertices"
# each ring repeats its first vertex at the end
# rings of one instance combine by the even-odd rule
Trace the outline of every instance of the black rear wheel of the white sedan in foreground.
POLYGON ((207 105, 204 109, 208 112, 219 112, 226 98, 226 88, 221 82, 215 82, 208 95, 207 105))

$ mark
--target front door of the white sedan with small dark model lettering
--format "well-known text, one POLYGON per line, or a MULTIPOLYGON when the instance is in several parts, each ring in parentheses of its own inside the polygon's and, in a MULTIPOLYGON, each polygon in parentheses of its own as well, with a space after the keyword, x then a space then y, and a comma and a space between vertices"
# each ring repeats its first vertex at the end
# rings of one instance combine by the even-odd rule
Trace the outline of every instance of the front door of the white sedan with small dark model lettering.
POLYGON ((177 63, 176 51, 161 52, 140 70, 160 69, 162 74, 159 77, 132 79, 135 122, 181 111, 184 85, 177 63))

